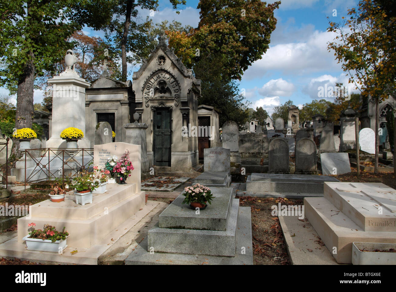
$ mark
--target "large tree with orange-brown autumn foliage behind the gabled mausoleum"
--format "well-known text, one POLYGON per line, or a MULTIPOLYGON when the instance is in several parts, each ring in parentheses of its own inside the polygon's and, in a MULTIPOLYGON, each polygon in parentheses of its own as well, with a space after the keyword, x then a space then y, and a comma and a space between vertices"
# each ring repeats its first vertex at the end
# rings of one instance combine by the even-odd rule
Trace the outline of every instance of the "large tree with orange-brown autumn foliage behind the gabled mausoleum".
POLYGON ((200 0, 198 27, 188 33, 168 32, 169 46, 190 68, 201 56, 211 54, 223 78, 240 80, 267 51, 279 5, 279 1, 267 5, 261 0, 200 0))

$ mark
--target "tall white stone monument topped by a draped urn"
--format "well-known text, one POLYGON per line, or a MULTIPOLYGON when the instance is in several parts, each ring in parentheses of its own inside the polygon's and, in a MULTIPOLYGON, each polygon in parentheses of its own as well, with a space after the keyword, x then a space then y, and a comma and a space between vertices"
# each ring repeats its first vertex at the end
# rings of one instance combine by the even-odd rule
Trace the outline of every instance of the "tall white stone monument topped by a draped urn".
POLYGON ((89 140, 85 137, 85 89, 91 85, 80 78, 74 70, 77 57, 72 50, 65 56, 66 70, 48 80, 52 89, 52 125, 51 137, 46 142, 47 148, 66 148, 61 132, 74 127, 84 132, 84 138, 78 140, 78 148, 89 148, 89 140))

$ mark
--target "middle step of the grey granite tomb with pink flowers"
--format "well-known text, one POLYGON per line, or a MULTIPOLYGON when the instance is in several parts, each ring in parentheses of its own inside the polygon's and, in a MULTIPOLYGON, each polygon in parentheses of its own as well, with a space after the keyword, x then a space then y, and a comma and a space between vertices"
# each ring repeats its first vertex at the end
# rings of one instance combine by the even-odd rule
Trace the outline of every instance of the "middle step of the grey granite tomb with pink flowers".
MULTIPOLYGON (((235 256, 239 199, 232 199, 230 218, 223 230, 173 229, 156 227, 148 231, 148 246, 154 252, 235 256)), ((205 210, 201 211, 204 215, 205 210)))

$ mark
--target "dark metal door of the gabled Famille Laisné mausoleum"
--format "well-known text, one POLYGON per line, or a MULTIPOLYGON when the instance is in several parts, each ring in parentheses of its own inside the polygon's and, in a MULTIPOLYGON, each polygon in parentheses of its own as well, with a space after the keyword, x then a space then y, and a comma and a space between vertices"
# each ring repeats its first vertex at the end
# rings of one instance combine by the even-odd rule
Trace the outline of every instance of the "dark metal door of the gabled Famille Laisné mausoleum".
POLYGON ((154 111, 154 165, 171 166, 171 111, 154 111))

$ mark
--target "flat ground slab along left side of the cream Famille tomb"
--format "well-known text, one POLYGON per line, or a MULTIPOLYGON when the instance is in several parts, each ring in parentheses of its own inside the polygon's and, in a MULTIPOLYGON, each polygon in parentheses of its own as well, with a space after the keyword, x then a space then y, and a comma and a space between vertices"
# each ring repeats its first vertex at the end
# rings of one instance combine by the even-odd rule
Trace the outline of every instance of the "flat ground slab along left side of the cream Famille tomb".
POLYGON ((302 222, 297 216, 278 218, 293 265, 337 265, 326 246, 320 245, 320 237, 309 221, 302 222))

